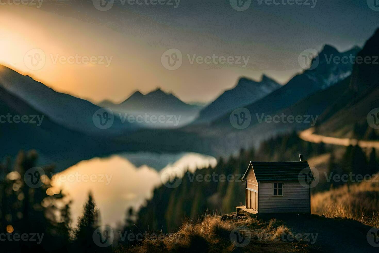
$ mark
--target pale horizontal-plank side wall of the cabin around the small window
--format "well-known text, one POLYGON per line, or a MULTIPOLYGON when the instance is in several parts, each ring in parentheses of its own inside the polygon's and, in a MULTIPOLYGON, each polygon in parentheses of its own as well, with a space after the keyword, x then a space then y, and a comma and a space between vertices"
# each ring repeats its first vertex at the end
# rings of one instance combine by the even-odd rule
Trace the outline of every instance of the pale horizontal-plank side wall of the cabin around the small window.
POLYGON ((283 196, 273 196, 273 182, 259 183, 259 212, 305 212, 310 213, 309 189, 298 181, 275 181, 283 183, 283 196))

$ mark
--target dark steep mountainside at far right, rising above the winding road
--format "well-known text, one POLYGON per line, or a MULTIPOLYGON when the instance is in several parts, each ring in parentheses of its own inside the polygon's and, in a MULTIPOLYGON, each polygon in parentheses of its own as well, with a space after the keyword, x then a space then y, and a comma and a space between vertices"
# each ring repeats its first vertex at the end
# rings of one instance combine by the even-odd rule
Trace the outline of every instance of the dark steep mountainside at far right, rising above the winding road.
MULTIPOLYGON (((379 58, 379 29, 366 42, 357 57, 379 58)), ((336 99, 329 108, 320 116, 323 124, 317 133, 334 137, 367 137, 367 115, 374 108, 379 107, 379 60, 377 64, 354 64, 353 74, 348 88, 336 99), (356 128, 354 132, 354 128, 356 128), (362 128, 357 130, 357 128, 362 128), (358 132, 358 133, 357 133, 358 132), (361 132, 361 133, 359 133, 361 132)), ((375 130, 379 134, 377 129, 375 130)))

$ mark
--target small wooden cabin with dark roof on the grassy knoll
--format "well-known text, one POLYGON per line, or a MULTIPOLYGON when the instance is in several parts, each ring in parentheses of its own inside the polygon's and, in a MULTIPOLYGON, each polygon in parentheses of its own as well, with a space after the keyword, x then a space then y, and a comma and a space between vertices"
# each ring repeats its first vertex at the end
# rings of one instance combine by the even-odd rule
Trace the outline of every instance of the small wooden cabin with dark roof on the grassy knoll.
POLYGON ((242 180, 246 181, 245 211, 310 213, 309 181, 314 178, 301 155, 298 162, 250 162, 242 180))

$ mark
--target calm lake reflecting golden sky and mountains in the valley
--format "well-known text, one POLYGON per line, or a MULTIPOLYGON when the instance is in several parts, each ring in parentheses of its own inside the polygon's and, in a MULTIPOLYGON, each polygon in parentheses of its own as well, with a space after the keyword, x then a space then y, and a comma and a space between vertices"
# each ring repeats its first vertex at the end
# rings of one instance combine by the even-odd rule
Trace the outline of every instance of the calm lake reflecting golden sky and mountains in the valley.
POLYGON ((215 167, 216 159, 198 153, 155 154, 149 152, 114 154, 83 160, 52 178, 54 192, 63 189, 72 200, 73 225, 81 215, 91 191, 100 210, 101 224, 123 222, 129 207, 138 210, 152 197, 152 191, 168 180, 196 168, 215 167), (174 174, 173 174, 174 172, 174 174))

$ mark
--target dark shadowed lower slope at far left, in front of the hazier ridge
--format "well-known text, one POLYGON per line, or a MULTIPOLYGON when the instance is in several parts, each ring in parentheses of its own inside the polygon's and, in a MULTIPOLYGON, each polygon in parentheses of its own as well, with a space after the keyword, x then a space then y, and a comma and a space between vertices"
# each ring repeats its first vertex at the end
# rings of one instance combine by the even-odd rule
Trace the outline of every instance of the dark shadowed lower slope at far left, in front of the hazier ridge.
POLYGON ((4 145, 0 158, 14 156, 21 148, 36 149, 42 156, 41 163, 58 163, 58 170, 62 170, 96 149, 93 138, 56 124, 1 86, 0 115, 10 116, 9 120, 2 118, 0 124, 0 142, 4 145), (14 116, 27 116, 28 122, 22 123, 14 116))

